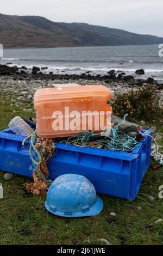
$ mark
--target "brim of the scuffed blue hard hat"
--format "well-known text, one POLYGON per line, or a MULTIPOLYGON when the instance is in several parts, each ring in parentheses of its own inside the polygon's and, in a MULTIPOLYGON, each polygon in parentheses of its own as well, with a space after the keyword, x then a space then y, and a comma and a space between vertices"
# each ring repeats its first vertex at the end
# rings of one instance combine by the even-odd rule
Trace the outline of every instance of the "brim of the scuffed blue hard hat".
POLYGON ((86 217, 86 216, 96 216, 101 213, 103 210, 103 200, 97 196, 97 200, 95 205, 93 205, 88 211, 86 212, 73 212, 72 214, 67 214, 65 212, 60 211, 53 211, 49 208, 49 205, 47 203, 47 200, 45 201, 45 208, 51 212, 52 214, 61 216, 61 217, 86 217))

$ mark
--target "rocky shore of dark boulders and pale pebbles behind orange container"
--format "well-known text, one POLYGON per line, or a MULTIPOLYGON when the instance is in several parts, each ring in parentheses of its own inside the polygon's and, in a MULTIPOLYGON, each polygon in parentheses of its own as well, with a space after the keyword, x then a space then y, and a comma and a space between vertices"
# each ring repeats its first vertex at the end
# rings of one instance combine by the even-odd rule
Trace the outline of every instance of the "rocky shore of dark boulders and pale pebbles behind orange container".
POLYGON ((113 95, 111 101, 116 94, 124 94, 130 92, 130 90, 136 91, 140 88, 152 86, 160 96, 160 107, 163 107, 163 84, 158 84, 151 77, 147 80, 140 80, 123 72, 122 74, 117 74, 114 70, 110 70, 105 76, 92 76, 89 74, 89 71, 82 75, 60 75, 53 74, 52 72, 50 74, 43 74, 41 71, 36 66, 33 66, 29 73, 26 66, 18 68, 17 66, 10 67, 0 64, 0 90, 2 92, 0 103, 7 104, 5 100, 8 100, 8 97, 13 95, 11 106, 21 106, 23 103, 28 103, 28 108, 24 111, 30 112, 33 96, 37 89, 55 87, 55 84, 80 84, 82 86, 86 84, 101 84, 110 89, 113 95))

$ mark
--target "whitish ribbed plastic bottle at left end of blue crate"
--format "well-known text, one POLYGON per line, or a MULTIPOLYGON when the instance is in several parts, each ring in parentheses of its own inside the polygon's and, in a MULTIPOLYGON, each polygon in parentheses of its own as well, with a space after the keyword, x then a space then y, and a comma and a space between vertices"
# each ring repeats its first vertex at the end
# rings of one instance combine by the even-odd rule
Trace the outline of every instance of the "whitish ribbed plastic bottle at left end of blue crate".
POLYGON ((32 127, 30 127, 21 117, 14 117, 9 123, 9 128, 16 135, 30 136, 34 133, 32 127))

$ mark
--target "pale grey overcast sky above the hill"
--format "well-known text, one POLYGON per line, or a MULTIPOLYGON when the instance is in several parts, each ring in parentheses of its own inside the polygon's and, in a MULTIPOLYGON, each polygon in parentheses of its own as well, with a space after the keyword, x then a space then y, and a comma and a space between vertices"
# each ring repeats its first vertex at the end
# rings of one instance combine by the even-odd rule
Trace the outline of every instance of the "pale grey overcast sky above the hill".
POLYGON ((0 6, 2 14, 39 15, 163 37, 163 0, 5 0, 0 6))

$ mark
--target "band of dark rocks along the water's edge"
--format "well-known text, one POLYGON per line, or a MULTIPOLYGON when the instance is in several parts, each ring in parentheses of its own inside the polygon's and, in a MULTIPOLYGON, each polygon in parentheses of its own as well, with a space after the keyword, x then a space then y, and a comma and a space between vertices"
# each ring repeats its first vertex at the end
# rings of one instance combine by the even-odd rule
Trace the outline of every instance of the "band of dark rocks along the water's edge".
MULTIPOLYGON (((147 79, 135 78, 133 75, 126 75, 123 71, 115 71, 109 70, 106 75, 91 75, 91 71, 86 71, 81 75, 77 74, 66 74, 65 71, 62 71, 64 74, 53 74, 53 72, 49 72, 46 74, 43 71, 47 71, 47 66, 43 68, 39 68, 37 66, 33 66, 32 69, 28 69, 26 66, 18 67, 9 66, 5 64, 0 64, 0 79, 1 80, 19 80, 19 81, 30 81, 30 80, 87 80, 87 81, 99 81, 105 83, 120 83, 123 86, 124 84, 129 84, 130 86, 143 86, 146 84, 154 85, 157 84, 158 87, 163 88, 163 83, 158 83, 158 81, 154 80, 152 77, 148 77, 147 79)), ((141 75, 141 74, 140 74, 141 75)))

